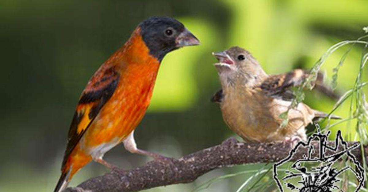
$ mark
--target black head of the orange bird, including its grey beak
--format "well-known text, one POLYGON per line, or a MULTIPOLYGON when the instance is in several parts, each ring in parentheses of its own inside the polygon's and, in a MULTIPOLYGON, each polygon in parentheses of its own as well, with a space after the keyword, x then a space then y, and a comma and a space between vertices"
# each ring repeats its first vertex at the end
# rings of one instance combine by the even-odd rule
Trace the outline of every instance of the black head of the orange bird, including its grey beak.
POLYGON ((150 54, 160 62, 170 51, 199 44, 199 40, 181 22, 173 18, 151 17, 139 27, 150 54))

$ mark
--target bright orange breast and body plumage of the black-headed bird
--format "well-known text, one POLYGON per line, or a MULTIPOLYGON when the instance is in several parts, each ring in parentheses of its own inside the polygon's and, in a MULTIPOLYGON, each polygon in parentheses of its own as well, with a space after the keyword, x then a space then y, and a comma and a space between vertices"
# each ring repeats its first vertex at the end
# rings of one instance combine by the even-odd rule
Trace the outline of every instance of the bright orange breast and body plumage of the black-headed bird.
POLYGON ((137 127, 151 101, 160 65, 149 55, 140 35, 133 36, 123 50, 118 50, 106 62, 116 65, 120 80, 114 94, 83 136, 83 146, 87 148, 116 137, 121 141, 137 127))

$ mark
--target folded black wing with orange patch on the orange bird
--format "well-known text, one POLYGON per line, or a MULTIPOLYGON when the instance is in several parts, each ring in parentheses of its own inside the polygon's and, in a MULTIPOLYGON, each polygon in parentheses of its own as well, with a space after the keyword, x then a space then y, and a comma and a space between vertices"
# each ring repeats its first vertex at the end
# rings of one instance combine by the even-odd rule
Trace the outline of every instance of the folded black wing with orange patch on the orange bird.
POLYGON ((68 156, 78 144, 93 119, 103 105, 113 95, 119 80, 119 74, 113 68, 101 67, 88 81, 79 98, 68 133, 68 144, 64 154, 63 166, 68 156))

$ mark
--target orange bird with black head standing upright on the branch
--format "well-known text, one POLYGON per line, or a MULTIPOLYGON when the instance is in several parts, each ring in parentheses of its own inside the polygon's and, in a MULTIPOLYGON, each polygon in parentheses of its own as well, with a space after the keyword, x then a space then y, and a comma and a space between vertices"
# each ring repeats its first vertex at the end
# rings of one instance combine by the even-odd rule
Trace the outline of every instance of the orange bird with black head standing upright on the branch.
POLYGON ((170 51, 198 45, 199 40, 173 18, 152 17, 138 25, 88 81, 68 133, 61 177, 54 192, 63 191, 73 175, 92 160, 110 169, 103 155, 123 142, 132 153, 155 160, 163 156, 137 148, 133 133, 151 101, 160 63, 170 51))

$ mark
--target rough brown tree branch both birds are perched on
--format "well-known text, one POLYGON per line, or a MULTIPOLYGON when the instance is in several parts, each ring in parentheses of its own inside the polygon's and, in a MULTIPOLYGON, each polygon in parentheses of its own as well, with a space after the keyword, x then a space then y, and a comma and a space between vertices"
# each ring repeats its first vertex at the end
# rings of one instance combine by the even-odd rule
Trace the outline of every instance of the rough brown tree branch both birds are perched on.
MULTIPOLYGON (((318 142, 315 153, 318 154, 318 142)), ((334 145, 333 142, 329 143, 334 145)), ((355 144, 350 142, 349 145, 355 144)), ((67 192, 112 192, 112 191, 140 191, 156 186, 178 183, 189 183, 199 176, 220 168, 239 164, 277 162, 291 150, 290 144, 285 143, 244 143, 235 138, 229 138, 220 145, 203 149, 180 159, 171 159, 171 162, 148 162, 145 166, 132 170, 113 170, 105 175, 91 178, 82 182, 76 188, 68 188, 67 192), (90 191, 91 190, 91 191, 90 191)), ((307 148, 300 147, 293 159, 301 159, 307 148)), ((365 154, 368 147, 364 147, 365 154)), ((342 151, 342 147, 339 149, 342 151)), ((331 152, 326 152, 327 155, 331 152)), ((360 148, 351 153, 361 160, 360 148)))

